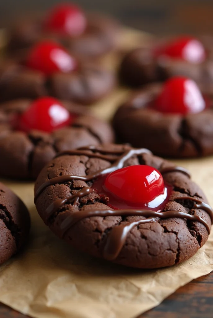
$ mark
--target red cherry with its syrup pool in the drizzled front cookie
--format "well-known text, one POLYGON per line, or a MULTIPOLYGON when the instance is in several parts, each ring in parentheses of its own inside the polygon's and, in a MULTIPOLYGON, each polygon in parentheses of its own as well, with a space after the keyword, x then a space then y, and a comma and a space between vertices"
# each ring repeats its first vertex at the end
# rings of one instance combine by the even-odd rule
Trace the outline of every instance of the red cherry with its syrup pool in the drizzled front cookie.
POLYGON ((161 173, 147 165, 135 165, 103 175, 92 185, 114 209, 151 209, 160 211, 169 200, 171 186, 161 173))

